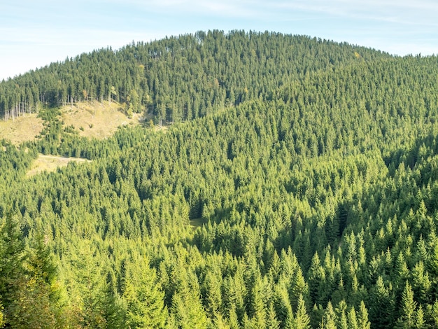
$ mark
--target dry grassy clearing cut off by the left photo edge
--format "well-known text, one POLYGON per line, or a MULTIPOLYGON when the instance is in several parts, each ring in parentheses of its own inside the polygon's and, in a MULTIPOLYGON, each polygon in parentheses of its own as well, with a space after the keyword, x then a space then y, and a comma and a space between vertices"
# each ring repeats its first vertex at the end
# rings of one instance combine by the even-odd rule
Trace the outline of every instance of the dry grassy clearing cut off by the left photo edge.
POLYGON ((0 139, 9 139, 14 145, 32 141, 43 130, 43 120, 36 113, 26 114, 14 120, 0 120, 0 139))

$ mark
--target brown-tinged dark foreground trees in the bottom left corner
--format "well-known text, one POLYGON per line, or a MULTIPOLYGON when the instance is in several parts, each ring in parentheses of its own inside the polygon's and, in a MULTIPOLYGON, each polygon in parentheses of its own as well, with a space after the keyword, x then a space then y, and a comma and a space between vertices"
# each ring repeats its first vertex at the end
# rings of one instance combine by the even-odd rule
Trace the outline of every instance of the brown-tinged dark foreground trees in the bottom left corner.
POLYGON ((1 227, 1 321, 13 328, 62 328, 64 310, 59 302, 57 269, 41 234, 29 248, 17 216, 6 214, 1 227), (36 307, 38 305, 38 307, 36 307))

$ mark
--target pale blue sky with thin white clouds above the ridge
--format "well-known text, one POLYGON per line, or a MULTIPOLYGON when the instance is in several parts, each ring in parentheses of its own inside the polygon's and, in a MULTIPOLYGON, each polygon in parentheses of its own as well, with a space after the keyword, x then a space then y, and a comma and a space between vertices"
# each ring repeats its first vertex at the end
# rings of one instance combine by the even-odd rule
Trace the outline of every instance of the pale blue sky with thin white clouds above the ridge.
POLYGON ((213 29, 434 55, 437 18, 437 0, 0 0, 0 80, 99 48, 213 29))

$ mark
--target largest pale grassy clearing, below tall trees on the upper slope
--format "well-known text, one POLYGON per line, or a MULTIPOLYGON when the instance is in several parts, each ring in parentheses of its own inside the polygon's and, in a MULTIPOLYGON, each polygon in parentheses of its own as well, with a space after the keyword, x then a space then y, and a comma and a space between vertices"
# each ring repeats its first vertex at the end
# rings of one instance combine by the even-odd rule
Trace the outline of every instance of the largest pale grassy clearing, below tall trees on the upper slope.
POLYGON ((143 123, 141 114, 128 118, 120 104, 115 102, 84 102, 63 106, 62 121, 73 126, 80 136, 104 139, 111 137, 118 127, 143 123))

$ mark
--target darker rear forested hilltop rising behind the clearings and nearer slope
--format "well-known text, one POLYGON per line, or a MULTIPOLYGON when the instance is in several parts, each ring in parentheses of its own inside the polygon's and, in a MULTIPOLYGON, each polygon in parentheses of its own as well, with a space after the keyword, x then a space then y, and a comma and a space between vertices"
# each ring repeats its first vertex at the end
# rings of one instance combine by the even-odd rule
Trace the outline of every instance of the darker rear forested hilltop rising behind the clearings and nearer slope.
POLYGON ((376 50, 277 33, 199 31, 96 50, 0 83, 0 118, 103 99, 157 120, 205 116, 318 69, 388 57, 376 50))

